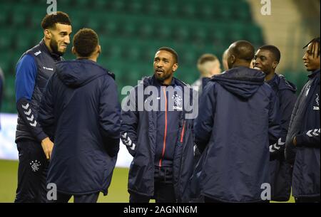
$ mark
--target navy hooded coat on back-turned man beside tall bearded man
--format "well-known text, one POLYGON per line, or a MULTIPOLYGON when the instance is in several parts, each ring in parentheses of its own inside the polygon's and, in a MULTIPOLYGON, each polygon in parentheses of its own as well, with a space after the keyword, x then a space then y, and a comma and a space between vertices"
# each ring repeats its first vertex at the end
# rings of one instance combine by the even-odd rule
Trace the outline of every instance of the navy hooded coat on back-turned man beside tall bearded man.
POLYGON ((39 122, 54 141, 48 183, 64 194, 107 194, 120 142, 116 83, 91 60, 56 64, 39 122))

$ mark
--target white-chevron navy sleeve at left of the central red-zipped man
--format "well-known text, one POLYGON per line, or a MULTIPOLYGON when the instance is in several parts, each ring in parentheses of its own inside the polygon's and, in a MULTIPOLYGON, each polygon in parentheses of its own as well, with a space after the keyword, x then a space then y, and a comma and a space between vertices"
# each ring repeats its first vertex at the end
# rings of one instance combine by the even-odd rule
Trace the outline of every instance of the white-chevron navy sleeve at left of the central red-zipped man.
POLYGON ((126 145, 128 152, 134 157, 138 141, 137 127, 139 120, 136 88, 133 88, 124 100, 121 111, 121 141, 126 145))

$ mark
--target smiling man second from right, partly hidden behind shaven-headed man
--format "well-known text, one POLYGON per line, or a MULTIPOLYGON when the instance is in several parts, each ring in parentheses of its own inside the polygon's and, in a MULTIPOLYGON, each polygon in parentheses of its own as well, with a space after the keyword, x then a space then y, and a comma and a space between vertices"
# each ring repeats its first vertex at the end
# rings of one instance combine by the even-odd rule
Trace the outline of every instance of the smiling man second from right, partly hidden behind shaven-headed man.
POLYGON ((279 100, 279 114, 282 132, 280 139, 270 145, 270 185, 272 201, 288 201, 291 194, 291 165, 285 162, 284 149, 287 129, 297 97, 295 85, 284 76, 275 73, 281 53, 272 45, 262 46, 255 53, 253 67, 265 73, 265 82, 271 86, 279 100))

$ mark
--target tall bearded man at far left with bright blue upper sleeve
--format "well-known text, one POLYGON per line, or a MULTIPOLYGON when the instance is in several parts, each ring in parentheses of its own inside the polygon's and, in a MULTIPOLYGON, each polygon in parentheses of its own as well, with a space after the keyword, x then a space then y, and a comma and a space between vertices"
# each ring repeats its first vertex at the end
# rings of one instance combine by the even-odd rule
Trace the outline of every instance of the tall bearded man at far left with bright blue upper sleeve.
POLYGON ((44 38, 26 51, 16 65, 16 144, 19 151, 18 187, 15 202, 46 202, 46 174, 54 147, 37 122, 47 80, 56 70, 70 43, 71 21, 58 11, 41 22, 44 38))

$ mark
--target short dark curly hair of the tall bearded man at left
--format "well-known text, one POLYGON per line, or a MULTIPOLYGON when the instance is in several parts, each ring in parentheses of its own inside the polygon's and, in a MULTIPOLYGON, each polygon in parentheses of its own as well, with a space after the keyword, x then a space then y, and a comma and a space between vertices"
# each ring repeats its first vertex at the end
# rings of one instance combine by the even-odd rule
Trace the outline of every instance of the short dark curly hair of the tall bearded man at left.
POLYGON ((56 23, 71 25, 68 14, 63 13, 62 11, 57 11, 56 14, 47 14, 41 21, 41 27, 44 29, 55 28, 56 23))

